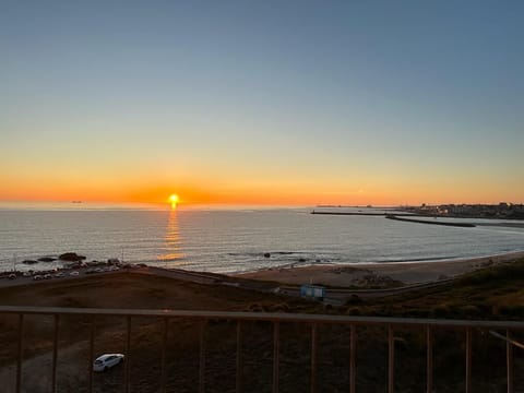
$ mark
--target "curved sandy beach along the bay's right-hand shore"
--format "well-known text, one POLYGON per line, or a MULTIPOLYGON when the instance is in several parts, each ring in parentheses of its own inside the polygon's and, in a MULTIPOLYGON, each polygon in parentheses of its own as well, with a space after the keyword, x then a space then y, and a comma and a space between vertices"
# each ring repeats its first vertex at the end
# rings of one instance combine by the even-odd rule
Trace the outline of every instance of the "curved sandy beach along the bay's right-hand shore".
POLYGON ((364 285, 373 276, 378 277, 379 281, 391 278, 404 284, 416 284, 456 277, 477 269, 512 262, 521 258, 524 258, 524 252, 453 261, 322 264, 303 267, 266 269, 238 274, 237 276, 291 285, 315 283, 341 287, 364 285))

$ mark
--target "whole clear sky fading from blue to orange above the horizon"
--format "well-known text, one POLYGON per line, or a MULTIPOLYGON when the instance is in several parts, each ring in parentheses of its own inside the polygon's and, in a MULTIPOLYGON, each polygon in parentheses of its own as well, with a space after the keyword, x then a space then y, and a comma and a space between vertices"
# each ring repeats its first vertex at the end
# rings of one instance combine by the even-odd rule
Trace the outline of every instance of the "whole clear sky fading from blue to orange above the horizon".
POLYGON ((522 1, 2 1, 0 201, 524 202, 522 1))

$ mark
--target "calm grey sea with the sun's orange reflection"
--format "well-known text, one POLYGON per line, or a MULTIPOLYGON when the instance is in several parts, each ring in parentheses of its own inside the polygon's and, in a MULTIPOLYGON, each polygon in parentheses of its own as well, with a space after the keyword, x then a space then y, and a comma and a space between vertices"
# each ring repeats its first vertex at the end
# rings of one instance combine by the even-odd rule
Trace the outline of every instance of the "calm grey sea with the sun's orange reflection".
MULTIPOLYGON (((74 251, 217 273, 289 264, 439 261, 524 250, 524 229, 443 227, 310 210, 0 210, 0 270, 74 251), (264 253, 271 253, 265 258, 264 253)), ((472 221, 471 221, 472 222, 472 221)), ((474 221, 473 221, 474 222, 474 221)), ((483 221, 477 221, 483 223, 483 221)), ((514 223, 514 222, 513 222, 514 223)), ((522 222, 521 222, 522 224, 522 222)))

